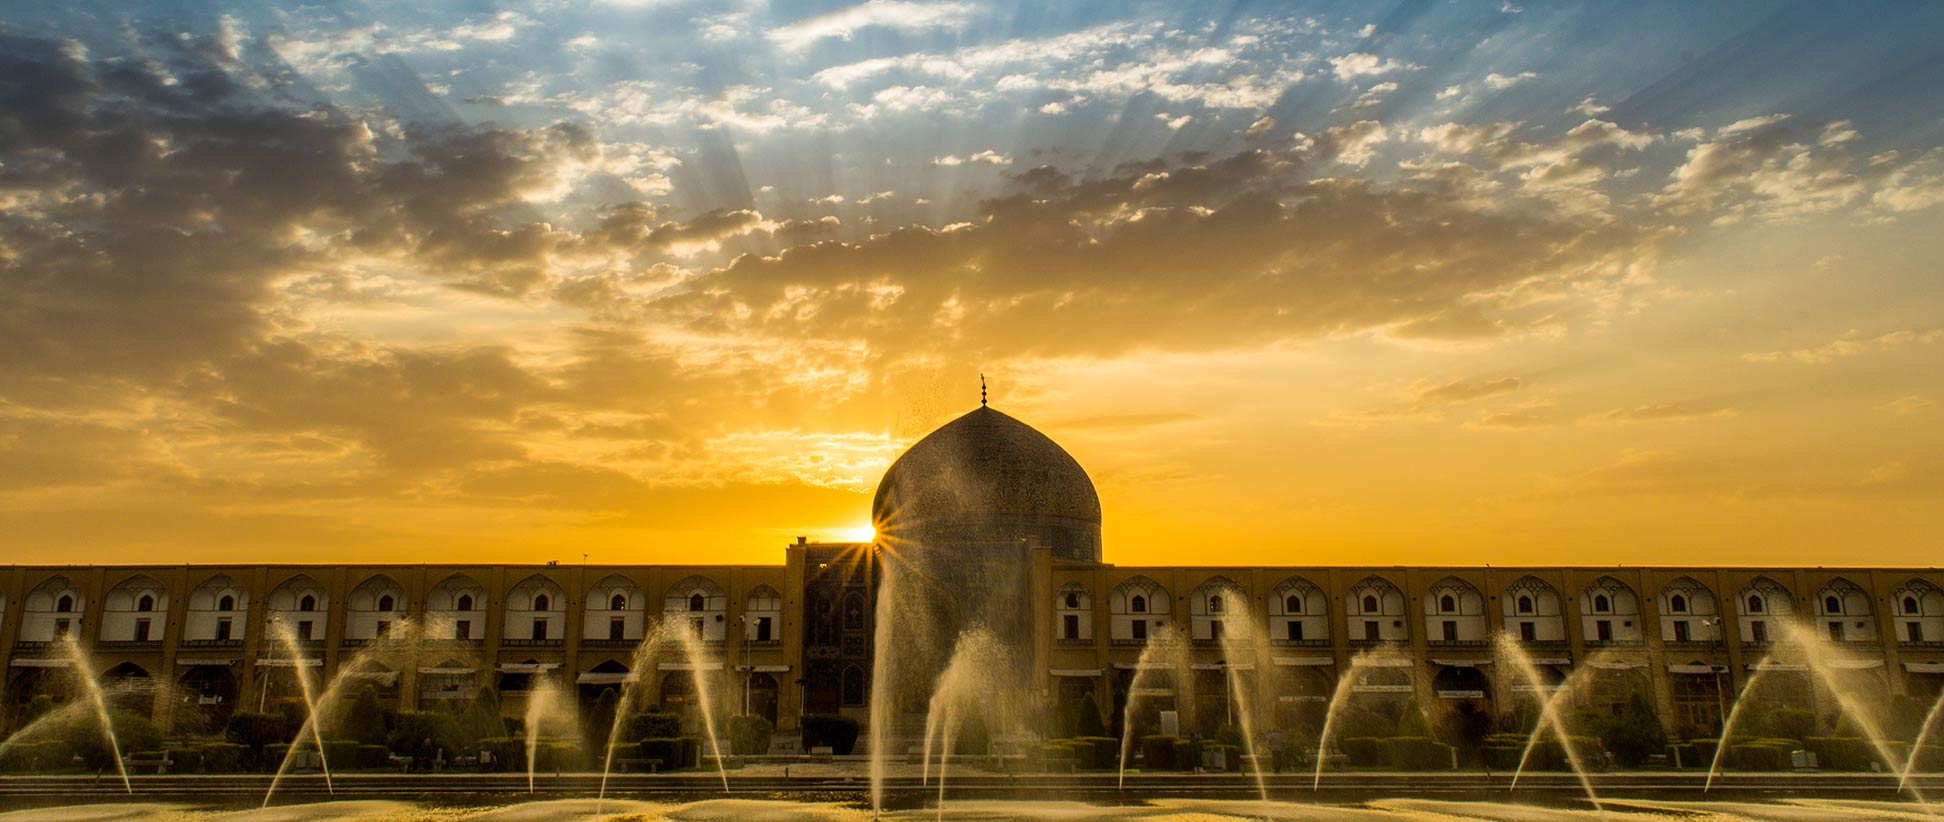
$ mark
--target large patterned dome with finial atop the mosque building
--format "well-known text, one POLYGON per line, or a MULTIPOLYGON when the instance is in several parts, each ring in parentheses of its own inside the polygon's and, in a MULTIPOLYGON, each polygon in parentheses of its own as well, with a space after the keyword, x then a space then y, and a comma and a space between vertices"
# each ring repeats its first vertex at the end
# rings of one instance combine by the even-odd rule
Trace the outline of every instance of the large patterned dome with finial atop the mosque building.
POLYGON ((1100 560, 1100 496, 1032 426, 980 406, 904 451, 877 486, 879 534, 927 544, 1036 538, 1063 560, 1100 560))

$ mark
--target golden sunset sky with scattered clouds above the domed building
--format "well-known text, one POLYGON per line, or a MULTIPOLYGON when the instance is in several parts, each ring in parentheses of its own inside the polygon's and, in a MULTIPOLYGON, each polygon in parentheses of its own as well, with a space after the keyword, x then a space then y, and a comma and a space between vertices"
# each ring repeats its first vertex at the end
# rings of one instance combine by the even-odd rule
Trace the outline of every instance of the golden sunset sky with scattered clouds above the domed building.
POLYGON ((0 562, 1944 554, 1944 4, 25 4, 0 562))

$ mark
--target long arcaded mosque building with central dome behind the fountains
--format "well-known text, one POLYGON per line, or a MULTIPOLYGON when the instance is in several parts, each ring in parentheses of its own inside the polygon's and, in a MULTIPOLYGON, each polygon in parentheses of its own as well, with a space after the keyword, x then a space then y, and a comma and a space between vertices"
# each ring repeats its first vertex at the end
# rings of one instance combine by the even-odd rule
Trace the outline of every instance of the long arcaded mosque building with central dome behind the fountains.
POLYGON ((1277 709, 1320 711, 1351 676, 1353 694, 1491 713, 1571 676, 1579 707, 1645 694, 1680 731, 1717 727, 1767 668, 1827 713, 1829 682, 1771 657, 1804 630, 1839 651, 1845 688, 1923 703, 1944 690, 1934 567, 1116 565, 1081 464, 984 402, 890 466, 873 523, 875 542, 797 538, 776 565, 0 567, 0 727, 70 674, 60 639, 76 637, 115 703, 177 731, 295 700, 295 668, 369 682, 399 709, 496 688, 507 715, 542 678, 583 705, 632 680, 678 709, 700 670, 717 700, 787 736, 803 713, 869 721, 888 587, 943 614, 927 622, 941 647, 986 626, 1032 694, 1091 694, 1108 723, 1143 649, 1178 641, 1147 688, 1184 733, 1229 719, 1234 674, 1277 709), (702 659, 632 670, 642 637, 675 620, 702 659), (1250 659, 1225 641, 1238 634, 1254 637, 1250 659), (1499 635, 1544 686, 1499 670, 1499 635))

